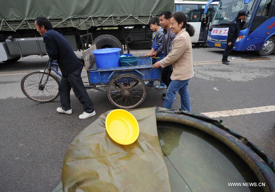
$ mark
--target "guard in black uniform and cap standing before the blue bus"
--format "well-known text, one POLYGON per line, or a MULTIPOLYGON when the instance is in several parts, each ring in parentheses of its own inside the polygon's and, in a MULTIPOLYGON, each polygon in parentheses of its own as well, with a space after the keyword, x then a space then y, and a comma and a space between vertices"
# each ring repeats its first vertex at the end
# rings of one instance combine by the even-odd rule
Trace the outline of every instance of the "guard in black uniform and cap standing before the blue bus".
POLYGON ((248 14, 245 13, 245 10, 240 10, 238 16, 230 23, 227 35, 226 49, 224 50, 222 56, 223 64, 229 65, 229 60, 227 60, 227 58, 231 53, 237 38, 239 37, 240 29, 244 27, 247 16, 248 14))

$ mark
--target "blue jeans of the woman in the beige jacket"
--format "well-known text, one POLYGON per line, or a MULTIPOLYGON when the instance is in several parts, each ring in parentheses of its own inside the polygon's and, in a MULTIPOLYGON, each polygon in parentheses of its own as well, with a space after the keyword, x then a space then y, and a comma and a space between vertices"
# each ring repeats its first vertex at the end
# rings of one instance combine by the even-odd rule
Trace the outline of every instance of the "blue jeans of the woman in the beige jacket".
POLYGON ((181 96, 181 107, 183 111, 191 111, 190 97, 188 91, 189 79, 184 81, 172 80, 166 91, 163 107, 172 109, 177 92, 181 96))

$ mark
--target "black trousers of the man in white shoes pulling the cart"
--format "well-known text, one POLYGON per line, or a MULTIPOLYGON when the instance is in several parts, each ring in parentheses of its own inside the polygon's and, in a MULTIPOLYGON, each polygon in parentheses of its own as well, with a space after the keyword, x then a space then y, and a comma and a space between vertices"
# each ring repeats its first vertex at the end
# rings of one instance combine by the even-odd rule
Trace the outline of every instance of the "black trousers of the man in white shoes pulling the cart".
POLYGON ((94 112, 94 104, 91 101, 81 78, 81 68, 68 74, 63 75, 59 83, 60 103, 63 110, 71 109, 70 91, 73 89, 75 96, 83 105, 86 113, 94 112))

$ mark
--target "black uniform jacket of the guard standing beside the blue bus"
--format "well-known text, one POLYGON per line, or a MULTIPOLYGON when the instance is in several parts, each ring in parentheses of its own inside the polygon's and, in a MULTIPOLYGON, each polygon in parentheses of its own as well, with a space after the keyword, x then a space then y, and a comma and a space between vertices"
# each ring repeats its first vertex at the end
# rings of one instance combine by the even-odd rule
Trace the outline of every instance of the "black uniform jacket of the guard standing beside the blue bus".
POLYGON ((239 37, 240 29, 244 27, 245 21, 239 20, 237 17, 229 25, 228 34, 227 34, 227 43, 236 42, 236 39, 239 37))

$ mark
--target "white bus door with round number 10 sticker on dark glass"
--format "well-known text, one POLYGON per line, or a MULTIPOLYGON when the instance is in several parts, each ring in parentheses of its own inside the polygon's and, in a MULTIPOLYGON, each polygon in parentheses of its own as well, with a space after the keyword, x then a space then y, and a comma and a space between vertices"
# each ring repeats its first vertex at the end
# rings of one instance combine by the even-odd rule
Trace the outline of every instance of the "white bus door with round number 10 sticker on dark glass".
POLYGON ((195 29, 195 34, 191 37, 192 43, 199 42, 200 37, 200 28, 201 28, 201 10, 192 10, 189 14, 189 24, 191 24, 195 29))

